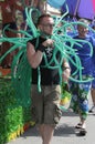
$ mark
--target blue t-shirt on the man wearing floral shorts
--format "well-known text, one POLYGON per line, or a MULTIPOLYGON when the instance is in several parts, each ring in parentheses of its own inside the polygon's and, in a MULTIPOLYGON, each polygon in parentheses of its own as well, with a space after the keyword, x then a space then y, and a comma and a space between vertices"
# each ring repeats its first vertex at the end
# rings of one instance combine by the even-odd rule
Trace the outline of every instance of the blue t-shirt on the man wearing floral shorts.
MULTIPOLYGON (((76 54, 78 55, 83 70, 82 70, 82 74, 88 74, 88 75, 93 75, 93 69, 89 69, 89 65, 93 68, 93 62, 92 62, 92 48, 88 43, 92 43, 92 38, 91 37, 86 37, 85 39, 81 39, 78 38, 78 35, 74 37, 74 39, 77 40, 84 40, 84 41, 80 41, 78 43, 81 45, 74 44, 73 49, 77 50, 76 54), (87 42, 86 42, 87 41, 87 42)), ((74 58, 72 58, 74 59, 74 58)), ((71 64, 72 68, 72 73, 75 71, 75 65, 71 64)))

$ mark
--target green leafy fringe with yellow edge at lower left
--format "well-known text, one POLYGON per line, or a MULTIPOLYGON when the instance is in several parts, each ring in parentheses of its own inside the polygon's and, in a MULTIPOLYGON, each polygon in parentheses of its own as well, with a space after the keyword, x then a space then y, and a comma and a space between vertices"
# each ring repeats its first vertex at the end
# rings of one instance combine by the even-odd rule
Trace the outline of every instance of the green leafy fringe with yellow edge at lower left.
POLYGON ((25 123, 31 121, 30 105, 23 107, 14 96, 15 92, 10 79, 0 79, 0 143, 25 123))

